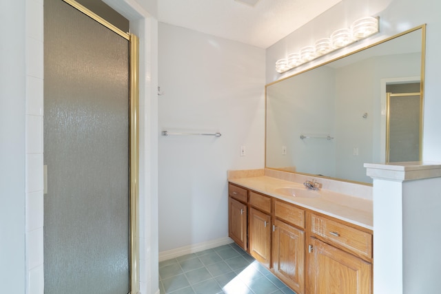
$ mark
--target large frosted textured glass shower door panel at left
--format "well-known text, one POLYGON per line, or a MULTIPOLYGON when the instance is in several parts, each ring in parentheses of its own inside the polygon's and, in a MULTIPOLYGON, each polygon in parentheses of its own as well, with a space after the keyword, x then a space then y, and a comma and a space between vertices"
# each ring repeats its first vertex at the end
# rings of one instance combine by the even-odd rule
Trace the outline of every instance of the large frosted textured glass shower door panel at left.
POLYGON ((130 43, 44 1, 45 293, 130 292, 130 43))

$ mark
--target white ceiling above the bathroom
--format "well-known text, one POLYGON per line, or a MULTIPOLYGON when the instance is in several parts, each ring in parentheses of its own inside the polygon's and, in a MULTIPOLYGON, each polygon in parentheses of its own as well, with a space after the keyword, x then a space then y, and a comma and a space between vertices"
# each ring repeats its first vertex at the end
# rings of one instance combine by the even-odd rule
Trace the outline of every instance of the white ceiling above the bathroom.
POLYGON ((340 1, 158 0, 158 21, 268 48, 340 1))

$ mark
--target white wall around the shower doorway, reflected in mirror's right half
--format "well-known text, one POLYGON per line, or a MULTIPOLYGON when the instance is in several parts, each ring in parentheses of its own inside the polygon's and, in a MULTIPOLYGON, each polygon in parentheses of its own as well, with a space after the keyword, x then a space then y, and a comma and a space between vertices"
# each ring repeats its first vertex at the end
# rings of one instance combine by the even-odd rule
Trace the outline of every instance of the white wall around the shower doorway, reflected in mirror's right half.
POLYGON ((382 78, 420 76, 420 54, 374 56, 336 70, 336 174, 359 182, 371 182, 365 162, 380 162, 382 78), (360 68, 363 69, 360 72, 360 68), (362 118, 364 113, 367 118, 362 118), (358 156, 353 156, 353 148, 358 156))

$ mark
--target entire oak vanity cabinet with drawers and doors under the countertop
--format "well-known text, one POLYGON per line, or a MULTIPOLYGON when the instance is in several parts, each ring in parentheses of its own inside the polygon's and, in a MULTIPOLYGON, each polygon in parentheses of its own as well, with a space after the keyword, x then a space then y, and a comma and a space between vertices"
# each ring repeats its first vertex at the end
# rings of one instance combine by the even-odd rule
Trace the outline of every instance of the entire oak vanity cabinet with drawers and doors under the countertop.
POLYGON ((369 229, 229 183, 229 237, 298 294, 372 294, 369 229))

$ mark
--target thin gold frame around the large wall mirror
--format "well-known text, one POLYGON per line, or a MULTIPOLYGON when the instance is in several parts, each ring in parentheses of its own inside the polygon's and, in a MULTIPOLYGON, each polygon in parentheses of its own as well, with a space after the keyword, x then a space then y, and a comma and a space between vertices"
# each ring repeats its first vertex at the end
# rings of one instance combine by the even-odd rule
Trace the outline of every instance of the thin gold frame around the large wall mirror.
MULTIPOLYGON (((421 107, 420 107, 420 160, 423 159, 422 156, 422 142, 423 142, 423 112, 424 112, 424 72, 425 72, 425 56, 426 56, 426 24, 422 24, 422 25, 418 25, 415 28, 411 28, 409 30, 406 30, 404 32, 401 32, 399 34, 393 35, 388 37, 387 39, 384 39, 382 41, 378 41, 376 43, 372 43, 371 45, 367 45, 366 47, 360 48, 358 50, 355 50, 353 52, 350 52, 348 54, 344 54, 342 56, 338 56, 335 59, 331 59, 329 61, 325 61, 323 63, 320 63, 318 65, 314 65, 314 67, 308 68, 307 70, 302 70, 300 72, 296 72, 296 74, 292 74, 290 76, 286 76, 285 78, 281 78, 278 81, 274 81, 272 83, 269 83, 267 85, 265 85, 265 168, 267 169, 274 169, 274 170, 279 170, 279 171, 287 171, 285 169, 278 169, 278 168, 274 168, 274 167, 267 167, 267 87, 274 85, 276 83, 280 83, 282 81, 286 81, 289 78, 292 78, 294 76, 298 76, 299 74, 303 74, 305 72, 309 72, 311 70, 316 69, 317 67, 320 67, 322 65, 327 65, 328 63, 332 63, 334 61, 338 61, 340 59, 344 59, 347 56, 351 56, 353 54, 356 54, 358 52, 361 52, 363 50, 367 50, 369 48, 372 48, 376 45, 380 45, 382 43, 385 43, 387 41, 391 41, 393 39, 396 39, 400 36, 404 36, 405 34, 409 34, 410 32, 415 32, 417 30, 421 30, 421 61, 420 61, 420 94, 421 94, 421 107)), ((387 125, 389 125, 389 123, 387 123, 387 125)), ((389 145, 389 143, 387 142, 387 145, 389 145)), ((360 185, 367 185, 367 186, 372 186, 372 184, 366 183, 366 182, 358 182, 358 181, 354 181, 354 180, 347 180, 347 179, 342 179, 342 178, 334 178, 334 177, 328 177, 328 176, 318 176, 316 174, 307 174, 307 173, 302 173, 302 172, 298 172, 298 171, 287 171, 290 172, 292 174, 301 174, 301 175, 305 175, 305 176, 313 176, 314 178, 327 178, 327 179, 331 179, 331 180, 339 180, 342 182, 352 182, 352 183, 356 183, 356 184, 360 184, 360 185)))

